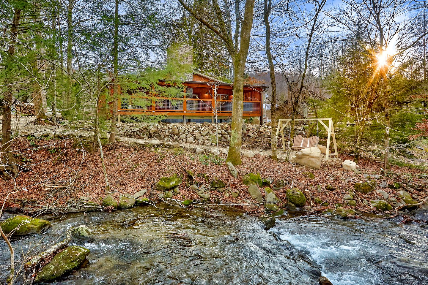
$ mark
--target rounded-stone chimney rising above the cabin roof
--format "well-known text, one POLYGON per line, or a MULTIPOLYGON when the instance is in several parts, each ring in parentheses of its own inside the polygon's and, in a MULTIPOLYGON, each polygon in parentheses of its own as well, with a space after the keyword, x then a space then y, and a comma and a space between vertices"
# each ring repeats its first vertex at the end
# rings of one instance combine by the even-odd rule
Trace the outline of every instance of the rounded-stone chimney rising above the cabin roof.
POLYGON ((179 79, 193 80, 193 48, 188 45, 172 45, 167 52, 166 64, 176 69, 179 79))

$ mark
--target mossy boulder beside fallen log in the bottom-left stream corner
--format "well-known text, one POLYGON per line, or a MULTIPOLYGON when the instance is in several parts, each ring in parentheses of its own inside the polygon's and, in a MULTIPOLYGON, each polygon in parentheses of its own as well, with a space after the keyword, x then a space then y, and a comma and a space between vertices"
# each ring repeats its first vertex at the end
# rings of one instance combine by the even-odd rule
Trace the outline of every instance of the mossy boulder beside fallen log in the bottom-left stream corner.
POLYGON ((84 247, 71 246, 65 248, 65 250, 57 253, 51 262, 42 267, 34 282, 49 282, 70 273, 83 264, 89 252, 84 247))

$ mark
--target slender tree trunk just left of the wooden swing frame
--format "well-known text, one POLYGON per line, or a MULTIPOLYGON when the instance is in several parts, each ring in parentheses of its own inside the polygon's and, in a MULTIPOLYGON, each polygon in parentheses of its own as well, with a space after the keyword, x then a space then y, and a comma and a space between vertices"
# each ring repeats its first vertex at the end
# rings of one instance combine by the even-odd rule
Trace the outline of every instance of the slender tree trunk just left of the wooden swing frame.
POLYGON ((276 150, 276 80, 275 80, 275 69, 273 66, 272 54, 270 53, 270 25, 269 25, 269 14, 270 14, 270 5, 272 0, 265 0, 265 10, 263 13, 263 19, 265 21, 266 27, 266 56, 268 58, 269 72, 270 72, 270 85, 271 85, 271 95, 270 95, 270 148, 271 148, 271 158, 273 160, 278 160, 278 151, 276 150))

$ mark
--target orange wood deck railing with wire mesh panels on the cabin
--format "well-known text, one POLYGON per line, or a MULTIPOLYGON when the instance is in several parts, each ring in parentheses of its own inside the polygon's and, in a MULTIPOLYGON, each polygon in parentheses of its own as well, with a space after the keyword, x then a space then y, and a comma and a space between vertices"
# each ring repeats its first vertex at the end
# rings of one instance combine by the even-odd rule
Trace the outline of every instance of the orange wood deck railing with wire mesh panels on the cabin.
MULTIPOLYGON (((122 98, 121 111, 177 112, 177 113, 232 113, 232 100, 207 100, 191 98, 138 98, 138 103, 122 98), (134 105, 137 104, 137 105, 134 105), (217 105, 217 106, 216 106, 217 105), (216 106, 216 108, 214 107, 216 106)), ((137 100, 136 100, 137 101, 137 100)), ((244 101, 244 113, 260 113, 260 101, 244 101)))

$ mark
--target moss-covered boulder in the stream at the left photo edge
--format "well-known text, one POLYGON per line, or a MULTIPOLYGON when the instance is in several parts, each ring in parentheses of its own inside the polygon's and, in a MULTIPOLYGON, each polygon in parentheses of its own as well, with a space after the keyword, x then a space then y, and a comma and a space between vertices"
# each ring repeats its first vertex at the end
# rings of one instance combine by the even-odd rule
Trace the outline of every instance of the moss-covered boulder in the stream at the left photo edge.
POLYGON ((29 235, 42 232, 51 226, 47 220, 36 219, 25 215, 10 217, 0 223, 3 232, 7 235, 16 229, 12 235, 29 235))

